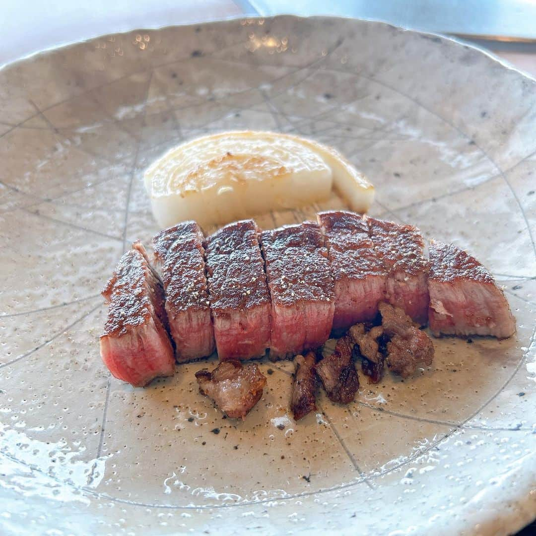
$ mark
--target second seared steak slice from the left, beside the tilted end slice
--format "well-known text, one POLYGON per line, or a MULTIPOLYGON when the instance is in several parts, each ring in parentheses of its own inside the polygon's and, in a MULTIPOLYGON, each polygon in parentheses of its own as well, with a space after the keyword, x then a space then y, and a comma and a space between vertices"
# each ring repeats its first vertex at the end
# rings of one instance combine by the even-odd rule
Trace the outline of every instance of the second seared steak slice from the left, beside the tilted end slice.
POLYGON ((161 265, 169 330, 179 363, 214 352, 205 276, 203 231, 195 221, 162 230, 153 238, 155 260, 161 265))

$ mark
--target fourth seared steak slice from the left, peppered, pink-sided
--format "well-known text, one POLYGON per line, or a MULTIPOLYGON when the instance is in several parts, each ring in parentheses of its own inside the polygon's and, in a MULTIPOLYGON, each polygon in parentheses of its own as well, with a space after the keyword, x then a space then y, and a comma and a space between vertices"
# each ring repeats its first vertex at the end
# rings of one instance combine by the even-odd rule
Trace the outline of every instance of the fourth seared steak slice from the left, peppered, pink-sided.
POLYGON ((260 242, 272 300, 270 357, 322 346, 335 310, 327 249, 316 223, 264 231, 260 242))

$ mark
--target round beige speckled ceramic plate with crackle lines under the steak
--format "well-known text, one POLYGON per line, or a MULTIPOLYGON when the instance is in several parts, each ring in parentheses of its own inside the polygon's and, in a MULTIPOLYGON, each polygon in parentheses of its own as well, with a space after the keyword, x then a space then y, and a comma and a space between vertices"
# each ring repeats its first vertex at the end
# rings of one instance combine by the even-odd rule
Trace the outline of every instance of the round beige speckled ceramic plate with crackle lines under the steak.
POLYGON ((535 89, 464 44, 336 18, 112 35, 0 71, 0 532, 503 534, 529 522, 535 89), (245 128, 337 147, 376 185, 374 215, 490 267, 517 335, 436 340, 429 369, 362 377, 348 407, 321 394, 298 425, 289 362, 261 362, 267 388, 245 422, 198 393, 207 363, 147 389, 110 377, 99 292, 129 243, 157 230, 143 169, 183 140, 245 128))

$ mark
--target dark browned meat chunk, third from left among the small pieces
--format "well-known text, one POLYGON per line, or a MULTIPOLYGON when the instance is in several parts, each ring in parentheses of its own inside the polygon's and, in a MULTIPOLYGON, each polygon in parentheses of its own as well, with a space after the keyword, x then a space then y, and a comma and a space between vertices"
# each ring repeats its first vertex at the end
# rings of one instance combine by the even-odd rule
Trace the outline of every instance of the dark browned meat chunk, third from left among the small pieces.
POLYGON ((359 377, 352 360, 351 339, 345 335, 335 345, 333 353, 315 366, 327 397, 339 404, 353 401, 359 389, 359 377))

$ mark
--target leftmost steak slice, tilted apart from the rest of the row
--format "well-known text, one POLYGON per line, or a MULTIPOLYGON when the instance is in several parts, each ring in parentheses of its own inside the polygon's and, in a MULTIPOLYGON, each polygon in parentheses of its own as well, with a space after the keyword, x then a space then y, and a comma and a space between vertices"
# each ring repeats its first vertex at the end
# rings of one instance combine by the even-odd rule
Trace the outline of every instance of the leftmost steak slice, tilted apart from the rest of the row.
POLYGON ((121 257, 102 295, 108 302, 108 317, 100 353, 111 374, 135 387, 158 376, 172 376, 175 359, 164 291, 142 244, 135 242, 121 257))

